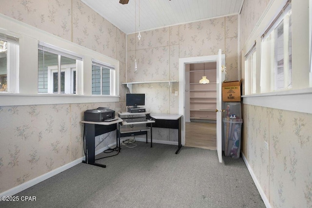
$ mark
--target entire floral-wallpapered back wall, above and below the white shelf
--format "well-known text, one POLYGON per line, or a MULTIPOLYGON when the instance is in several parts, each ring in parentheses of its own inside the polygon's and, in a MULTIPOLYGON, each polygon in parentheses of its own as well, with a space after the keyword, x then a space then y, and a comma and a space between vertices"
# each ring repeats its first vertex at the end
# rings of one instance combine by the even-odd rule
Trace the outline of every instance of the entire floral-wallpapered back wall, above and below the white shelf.
MULTIPOLYGON (((128 35, 127 82, 179 80, 179 58, 225 54, 227 80, 237 80, 238 16, 197 21, 128 35), (137 59, 137 71, 135 68, 137 59)), ((136 84, 145 93, 145 107, 154 113, 178 113, 178 84, 136 84)), ((153 138, 177 141, 177 131, 153 130, 153 138)))

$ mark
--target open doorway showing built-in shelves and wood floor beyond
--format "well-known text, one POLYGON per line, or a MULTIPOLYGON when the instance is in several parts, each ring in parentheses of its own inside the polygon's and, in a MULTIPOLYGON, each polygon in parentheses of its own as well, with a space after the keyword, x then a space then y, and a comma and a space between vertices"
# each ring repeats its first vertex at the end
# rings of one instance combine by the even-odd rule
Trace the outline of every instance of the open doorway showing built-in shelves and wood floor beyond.
POLYGON ((216 60, 185 64, 185 146, 216 150, 216 60), (207 84, 199 80, 206 76, 207 84))

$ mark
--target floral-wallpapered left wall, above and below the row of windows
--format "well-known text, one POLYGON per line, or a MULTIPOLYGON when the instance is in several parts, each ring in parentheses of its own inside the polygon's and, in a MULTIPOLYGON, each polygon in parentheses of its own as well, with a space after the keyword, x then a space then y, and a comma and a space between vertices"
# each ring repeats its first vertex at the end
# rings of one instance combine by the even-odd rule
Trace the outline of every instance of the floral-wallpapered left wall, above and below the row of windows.
MULTIPOLYGON (((119 60, 125 82, 126 34, 80 0, 11 0, 0 13, 119 60)), ((119 91, 118 103, 0 106, 0 192, 81 158, 83 112, 125 109, 121 84, 119 91)), ((97 150, 115 141, 112 132, 97 150)))

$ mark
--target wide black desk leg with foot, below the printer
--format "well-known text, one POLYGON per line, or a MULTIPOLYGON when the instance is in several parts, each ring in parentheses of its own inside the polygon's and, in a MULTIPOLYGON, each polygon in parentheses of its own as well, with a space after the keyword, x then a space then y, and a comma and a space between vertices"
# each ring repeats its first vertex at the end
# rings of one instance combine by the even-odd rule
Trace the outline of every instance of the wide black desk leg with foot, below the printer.
POLYGON ((106 165, 102 165, 95 162, 95 124, 85 125, 85 137, 86 137, 86 159, 83 163, 106 168, 106 165))

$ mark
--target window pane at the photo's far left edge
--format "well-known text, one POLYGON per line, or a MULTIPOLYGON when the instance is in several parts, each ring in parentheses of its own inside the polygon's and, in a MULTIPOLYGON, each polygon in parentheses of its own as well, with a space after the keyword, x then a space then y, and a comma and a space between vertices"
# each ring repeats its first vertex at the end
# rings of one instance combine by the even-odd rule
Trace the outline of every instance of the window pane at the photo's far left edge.
POLYGON ((7 52, 8 43, 0 39, 0 91, 7 91, 7 52))

